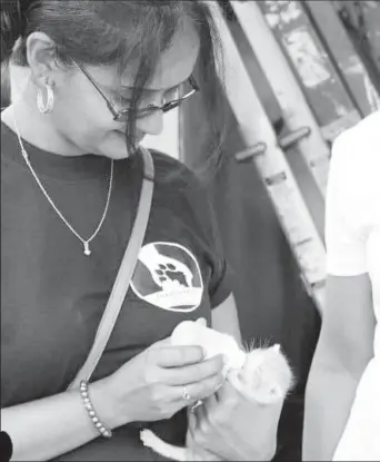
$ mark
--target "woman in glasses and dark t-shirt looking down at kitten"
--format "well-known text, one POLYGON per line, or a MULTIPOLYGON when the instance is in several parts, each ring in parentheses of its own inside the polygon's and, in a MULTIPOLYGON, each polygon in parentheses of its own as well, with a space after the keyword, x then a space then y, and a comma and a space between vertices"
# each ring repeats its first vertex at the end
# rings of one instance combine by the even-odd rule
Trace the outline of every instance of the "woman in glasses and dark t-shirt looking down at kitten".
MULTIPOLYGON (((2 58, 29 72, 1 115, 2 430, 14 460, 157 460, 139 427, 181 444, 186 407, 223 381, 221 357, 202 361, 198 347, 170 346, 174 326, 202 316, 240 341, 206 191, 168 156, 152 153, 157 175, 140 266, 89 385, 92 414, 67 387, 88 355, 129 240, 142 179, 138 144, 160 132, 164 110, 198 90, 196 65, 212 100, 212 18, 200 1, 1 8, 2 58), (112 438, 100 438, 93 415, 112 438)), ((227 394, 232 412, 241 401, 227 394)), ((236 448, 223 452, 213 419, 220 411, 209 411, 202 435, 217 441, 220 459, 239 459, 239 432, 236 448)), ((268 451, 250 440, 248 456, 268 451)))

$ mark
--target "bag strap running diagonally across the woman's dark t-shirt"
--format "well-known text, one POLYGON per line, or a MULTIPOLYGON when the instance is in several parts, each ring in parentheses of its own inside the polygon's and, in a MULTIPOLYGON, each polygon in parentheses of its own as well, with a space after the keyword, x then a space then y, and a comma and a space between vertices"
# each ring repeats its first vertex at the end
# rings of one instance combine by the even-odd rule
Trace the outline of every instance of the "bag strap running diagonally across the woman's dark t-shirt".
POLYGON ((106 348, 106 345, 111 336, 113 326, 117 322, 121 306, 126 298, 130 279, 133 275, 136 263, 139 256, 139 250, 143 243, 153 195, 154 165, 149 150, 143 147, 140 147, 140 150, 142 153, 143 158, 144 175, 142 180, 138 212, 134 219, 131 237, 129 239, 103 316, 100 321, 90 353, 83 366, 78 372, 76 379, 69 385, 69 390, 79 387, 80 381, 88 381, 91 377, 91 374, 94 371, 106 348))

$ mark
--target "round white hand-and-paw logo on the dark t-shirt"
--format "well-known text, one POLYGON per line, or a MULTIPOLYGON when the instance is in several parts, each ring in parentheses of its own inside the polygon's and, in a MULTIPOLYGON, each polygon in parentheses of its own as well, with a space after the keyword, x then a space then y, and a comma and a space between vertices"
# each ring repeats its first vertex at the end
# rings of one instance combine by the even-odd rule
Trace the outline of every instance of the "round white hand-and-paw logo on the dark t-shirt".
POLYGON ((157 306, 190 311, 200 304, 203 283, 190 250, 179 244, 153 243, 140 250, 131 288, 157 306))

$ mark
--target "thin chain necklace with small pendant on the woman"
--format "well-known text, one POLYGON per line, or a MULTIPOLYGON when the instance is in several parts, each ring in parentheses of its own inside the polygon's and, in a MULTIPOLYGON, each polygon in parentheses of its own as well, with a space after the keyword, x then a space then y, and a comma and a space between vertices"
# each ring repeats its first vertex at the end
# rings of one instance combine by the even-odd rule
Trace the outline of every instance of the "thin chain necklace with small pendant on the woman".
POLYGON ((113 184, 113 159, 111 160, 110 183, 109 183, 109 187, 108 187, 107 203, 106 203, 106 207, 104 207, 104 210, 103 210, 103 215, 101 216, 99 225, 97 226, 97 228, 92 233, 92 235, 88 239, 83 239, 82 236, 80 236, 80 234, 70 225, 70 223, 67 220, 67 218, 64 218, 62 213, 58 209, 58 207, 53 203, 52 198, 49 196, 49 194, 44 189, 40 178, 37 176, 36 170, 33 169, 32 165, 30 164, 29 155, 28 155, 28 153, 27 153, 27 150, 23 146, 23 142, 22 142, 22 139, 21 139, 21 136, 20 136, 20 131, 19 131, 18 125, 17 125, 17 121, 16 121, 14 112, 13 112, 13 120, 14 120, 16 134, 17 134, 17 137, 19 139, 19 145, 20 145, 22 157, 23 157, 27 166, 29 167, 31 174, 33 175, 38 186, 40 187, 41 191, 43 193, 44 197, 48 199, 48 201, 51 205, 51 207, 53 208, 53 210, 57 213, 57 215, 64 223, 64 225, 83 244, 84 255, 87 255, 87 256, 91 255, 90 243, 91 243, 91 240, 93 240, 96 238, 96 236, 98 235, 100 228, 102 227, 102 225, 104 223, 104 219, 106 219, 107 212, 108 212, 108 207, 109 207, 109 204, 110 204, 111 190, 112 190, 112 184, 113 184))

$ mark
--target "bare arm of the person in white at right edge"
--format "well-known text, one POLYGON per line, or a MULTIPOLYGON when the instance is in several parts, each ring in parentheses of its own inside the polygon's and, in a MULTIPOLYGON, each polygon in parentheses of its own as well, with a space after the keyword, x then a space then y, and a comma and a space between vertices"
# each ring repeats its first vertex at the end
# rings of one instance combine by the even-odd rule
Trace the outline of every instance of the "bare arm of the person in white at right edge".
POLYGON ((372 306, 367 274, 328 277, 322 330, 306 393, 304 461, 333 456, 358 383, 373 356, 372 306))

